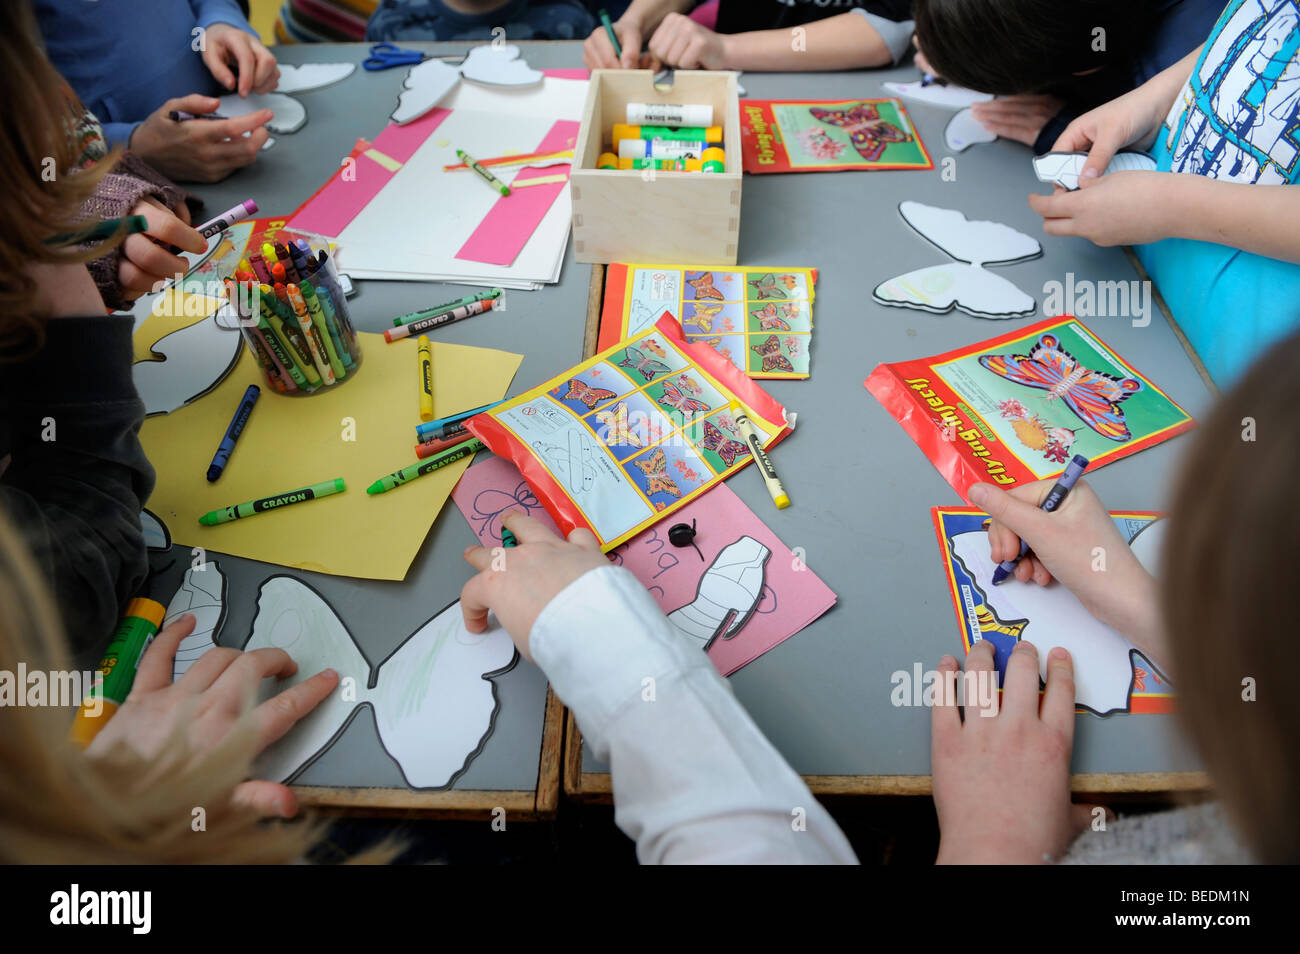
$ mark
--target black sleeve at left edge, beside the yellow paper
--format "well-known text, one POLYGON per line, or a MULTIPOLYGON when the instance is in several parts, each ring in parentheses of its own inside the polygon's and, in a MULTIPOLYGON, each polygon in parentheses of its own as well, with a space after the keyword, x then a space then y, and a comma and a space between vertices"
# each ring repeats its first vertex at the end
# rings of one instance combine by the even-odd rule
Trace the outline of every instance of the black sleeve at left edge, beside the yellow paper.
POLYGON ((52 318, 0 364, 9 464, 0 507, 43 571, 74 650, 103 642, 148 573, 140 509, 153 468, 131 381, 130 316, 52 318))

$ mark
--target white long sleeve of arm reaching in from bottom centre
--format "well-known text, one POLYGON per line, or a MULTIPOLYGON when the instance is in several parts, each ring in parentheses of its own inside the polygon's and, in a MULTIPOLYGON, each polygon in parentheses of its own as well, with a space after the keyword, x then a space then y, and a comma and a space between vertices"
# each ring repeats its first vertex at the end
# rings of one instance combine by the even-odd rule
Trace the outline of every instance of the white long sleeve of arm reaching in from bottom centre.
POLYGON ((829 814, 632 573, 589 571, 537 617, 537 664, 607 762, 645 864, 845 863, 829 814))

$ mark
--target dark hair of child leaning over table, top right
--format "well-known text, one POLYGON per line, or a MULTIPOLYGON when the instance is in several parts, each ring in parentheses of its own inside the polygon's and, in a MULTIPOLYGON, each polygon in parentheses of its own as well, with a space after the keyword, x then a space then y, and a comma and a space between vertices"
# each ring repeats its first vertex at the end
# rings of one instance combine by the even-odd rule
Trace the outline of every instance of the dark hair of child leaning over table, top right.
POLYGON ((1149 0, 915 0, 916 45, 939 75, 1008 96, 1046 92, 1122 61, 1149 34, 1149 0))

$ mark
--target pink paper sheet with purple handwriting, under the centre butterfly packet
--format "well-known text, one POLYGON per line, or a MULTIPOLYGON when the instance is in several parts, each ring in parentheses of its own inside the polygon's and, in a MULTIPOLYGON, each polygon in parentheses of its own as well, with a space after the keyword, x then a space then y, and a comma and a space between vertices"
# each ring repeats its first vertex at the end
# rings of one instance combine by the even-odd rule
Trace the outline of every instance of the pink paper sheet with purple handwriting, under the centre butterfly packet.
MULTIPOLYGON (((528 513, 555 529, 519 471, 502 458, 489 458, 471 467, 451 499, 486 547, 500 546, 500 521, 512 511, 528 513)), ((671 521, 650 528, 610 554, 614 563, 632 571, 667 613, 694 600, 701 574, 719 552, 746 535, 772 555, 767 560, 767 586, 758 610, 734 637, 715 641, 708 651, 723 676, 798 633, 835 606, 835 593, 724 483, 673 513, 671 521), (703 560, 693 547, 679 548, 668 543, 668 526, 692 520, 703 560)))

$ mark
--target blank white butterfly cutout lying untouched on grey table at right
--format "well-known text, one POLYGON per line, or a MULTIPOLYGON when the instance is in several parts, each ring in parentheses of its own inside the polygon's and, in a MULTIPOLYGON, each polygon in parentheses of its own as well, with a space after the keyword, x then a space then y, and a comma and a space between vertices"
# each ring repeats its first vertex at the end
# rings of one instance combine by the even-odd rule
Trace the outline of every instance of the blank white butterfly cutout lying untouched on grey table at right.
POLYGON ((904 221, 956 261, 930 265, 881 282, 872 292, 880 304, 946 315, 953 308, 978 318, 1023 318, 1037 311, 1032 295, 989 272, 1037 259, 1036 239, 1000 222, 971 221, 956 209, 918 201, 898 207, 904 221))

